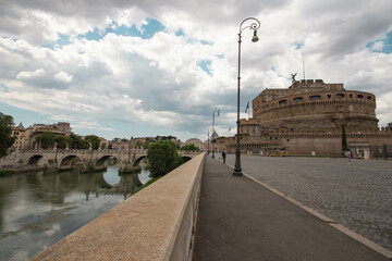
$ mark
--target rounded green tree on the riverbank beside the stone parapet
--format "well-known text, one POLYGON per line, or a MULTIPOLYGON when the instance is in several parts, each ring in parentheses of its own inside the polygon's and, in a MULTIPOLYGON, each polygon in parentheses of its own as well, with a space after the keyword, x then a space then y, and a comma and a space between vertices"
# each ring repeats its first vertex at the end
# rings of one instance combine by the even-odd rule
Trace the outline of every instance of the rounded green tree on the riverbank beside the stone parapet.
POLYGON ((147 159, 151 177, 163 176, 182 164, 176 146, 169 140, 151 144, 147 159))

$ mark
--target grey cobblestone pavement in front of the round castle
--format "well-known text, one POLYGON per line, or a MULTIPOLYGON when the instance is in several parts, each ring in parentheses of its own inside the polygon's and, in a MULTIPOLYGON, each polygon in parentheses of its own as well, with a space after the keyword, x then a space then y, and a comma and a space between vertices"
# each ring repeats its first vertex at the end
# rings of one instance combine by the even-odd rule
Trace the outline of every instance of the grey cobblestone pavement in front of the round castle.
MULTIPOLYGON (((234 165, 234 156, 226 162, 234 165)), ((392 162, 242 156, 243 172, 392 250, 392 162)))

